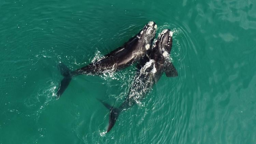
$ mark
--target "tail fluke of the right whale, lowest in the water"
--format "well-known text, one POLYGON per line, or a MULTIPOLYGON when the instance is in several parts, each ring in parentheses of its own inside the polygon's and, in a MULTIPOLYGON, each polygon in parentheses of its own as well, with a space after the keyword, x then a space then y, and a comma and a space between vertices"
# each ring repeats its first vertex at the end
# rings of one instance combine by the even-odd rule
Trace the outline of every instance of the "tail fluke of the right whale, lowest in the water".
MULTIPOLYGON (((99 99, 98 99, 99 100, 99 99)), ((105 105, 106 108, 109 109, 110 113, 109 113, 109 126, 108 126, 108 130, 106 132, 109 132, 113 126, 115 125, 115 122, 117 120, 117 117, 120 114, 120 110, 118 108, 115 108, 111 105, 109 105, 108 103, 105 103, 101 100, 99 100, 103 105, 105 105)))

